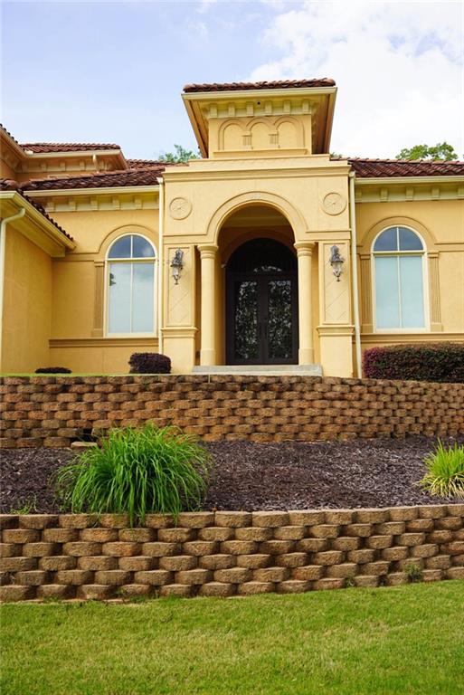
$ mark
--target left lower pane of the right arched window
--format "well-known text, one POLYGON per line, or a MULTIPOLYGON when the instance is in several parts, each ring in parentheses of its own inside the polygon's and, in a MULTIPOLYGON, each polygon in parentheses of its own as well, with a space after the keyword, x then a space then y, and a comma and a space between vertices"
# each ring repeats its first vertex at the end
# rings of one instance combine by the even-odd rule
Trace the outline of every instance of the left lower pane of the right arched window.
POLYGON ((397 256, 375 258, 375 321, 377 328, 400 328, 397 256))

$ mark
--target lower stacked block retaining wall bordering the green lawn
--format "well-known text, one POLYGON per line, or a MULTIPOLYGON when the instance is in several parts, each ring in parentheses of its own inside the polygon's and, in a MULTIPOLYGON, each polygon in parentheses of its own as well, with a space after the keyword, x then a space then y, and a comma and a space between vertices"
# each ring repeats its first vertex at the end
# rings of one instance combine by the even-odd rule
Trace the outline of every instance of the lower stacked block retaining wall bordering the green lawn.
POLYGON ((0 598, 294 594, 464 579, 464 504, 3 515, 0 598))

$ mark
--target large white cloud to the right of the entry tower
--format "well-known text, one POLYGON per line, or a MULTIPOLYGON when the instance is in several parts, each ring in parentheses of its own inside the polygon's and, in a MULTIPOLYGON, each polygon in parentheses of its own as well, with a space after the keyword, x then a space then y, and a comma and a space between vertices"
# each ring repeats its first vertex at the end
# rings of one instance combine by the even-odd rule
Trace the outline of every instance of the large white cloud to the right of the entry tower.
POLYGON ((344 155, 447 140, 463 157, 463 21, 456 2, 305 2, 274 15, 260 40, 280 57, 251 80, 333 77, 344 155))

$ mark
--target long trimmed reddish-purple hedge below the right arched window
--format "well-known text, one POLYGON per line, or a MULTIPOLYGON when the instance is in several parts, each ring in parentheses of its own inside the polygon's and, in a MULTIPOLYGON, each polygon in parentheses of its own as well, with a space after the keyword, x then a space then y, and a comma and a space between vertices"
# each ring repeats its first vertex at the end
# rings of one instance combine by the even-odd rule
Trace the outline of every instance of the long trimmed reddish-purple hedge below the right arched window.
POLYGON ((464 343, 397 345, 365 350, 364 375, 371 379, 412 379, 464 383, 464 343))

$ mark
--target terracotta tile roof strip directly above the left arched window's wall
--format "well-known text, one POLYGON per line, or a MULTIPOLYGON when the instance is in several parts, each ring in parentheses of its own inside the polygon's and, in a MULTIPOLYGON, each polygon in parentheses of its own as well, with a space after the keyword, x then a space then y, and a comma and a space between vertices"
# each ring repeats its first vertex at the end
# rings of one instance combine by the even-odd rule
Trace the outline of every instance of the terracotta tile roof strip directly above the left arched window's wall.
POLYGON ((86 176, 69 176, 67 178, 32 179, 21 187, 25 191, 50 191, 61 188, 107 188, 117 186, 157 186, 157 176, 166 168, 165 164, 158 167, 121 169, 101 174, 86 176))

